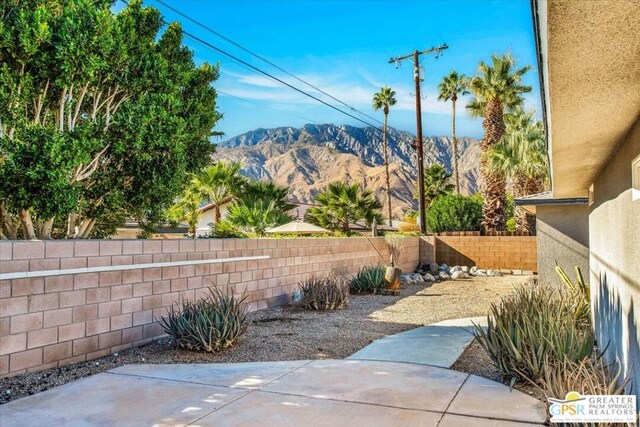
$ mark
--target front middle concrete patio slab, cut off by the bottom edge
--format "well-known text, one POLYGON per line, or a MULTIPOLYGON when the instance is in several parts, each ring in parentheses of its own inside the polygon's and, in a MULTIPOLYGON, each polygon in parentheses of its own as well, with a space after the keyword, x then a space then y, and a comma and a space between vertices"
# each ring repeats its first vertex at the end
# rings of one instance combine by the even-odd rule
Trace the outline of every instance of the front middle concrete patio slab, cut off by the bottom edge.
POLYGON ((203 427, 435 427, 440 416, 435 412, 257 391, 207 415, 196 424, 203 427))

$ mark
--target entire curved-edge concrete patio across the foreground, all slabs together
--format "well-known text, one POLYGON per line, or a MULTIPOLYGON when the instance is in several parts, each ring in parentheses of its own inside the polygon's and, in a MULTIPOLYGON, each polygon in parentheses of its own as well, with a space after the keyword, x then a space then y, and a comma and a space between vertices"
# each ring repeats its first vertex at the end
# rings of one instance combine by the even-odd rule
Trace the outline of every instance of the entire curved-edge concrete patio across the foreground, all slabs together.
POLYGON ((0 406, 3 426, 531 426, 542 402, 434 366, 128 365, 0 406))

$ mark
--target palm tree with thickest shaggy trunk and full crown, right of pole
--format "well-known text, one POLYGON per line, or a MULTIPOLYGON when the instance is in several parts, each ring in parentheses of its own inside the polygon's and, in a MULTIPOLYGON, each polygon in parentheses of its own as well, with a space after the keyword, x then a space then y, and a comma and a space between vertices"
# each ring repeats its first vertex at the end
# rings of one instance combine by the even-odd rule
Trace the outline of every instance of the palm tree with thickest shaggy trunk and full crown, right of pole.
POLYGON ((530 69, 530 66, 515 69, 515 61, 508 53, 503 56, 492 55, 491 65, 481 62, 475 77, 469 83, 469 90, 474 98, 467 105, 467 110, 472 116, 483 118, 482 214, 487 231, 504 230, 507 204, 504 173, 489 169, 488 152, 504 135, 505 113, 521 106, 522 94, 531 91, 531 86, 521 84, 522 76, 530 69))

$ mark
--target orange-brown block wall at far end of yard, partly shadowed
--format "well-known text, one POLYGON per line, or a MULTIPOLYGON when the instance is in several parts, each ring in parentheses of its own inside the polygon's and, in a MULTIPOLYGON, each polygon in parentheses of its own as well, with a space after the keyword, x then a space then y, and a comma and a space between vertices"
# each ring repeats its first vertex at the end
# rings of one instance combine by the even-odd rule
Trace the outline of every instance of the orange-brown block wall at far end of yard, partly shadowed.
MULTIPOLYGON (((537 271, 535 236, 436 236, 435 258, 448 265, 537 271)), ((429 262, 421 259, 421 262, 429 262)))

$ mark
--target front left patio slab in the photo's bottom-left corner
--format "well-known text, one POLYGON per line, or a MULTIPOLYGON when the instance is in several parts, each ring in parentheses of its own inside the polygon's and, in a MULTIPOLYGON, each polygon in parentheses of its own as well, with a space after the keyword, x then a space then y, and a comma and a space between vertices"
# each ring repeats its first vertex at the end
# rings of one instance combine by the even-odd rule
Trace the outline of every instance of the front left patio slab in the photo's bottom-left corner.
POLYGON ((187 425, 247 392, 103 373, 0 406, 0 425, 187 425))

